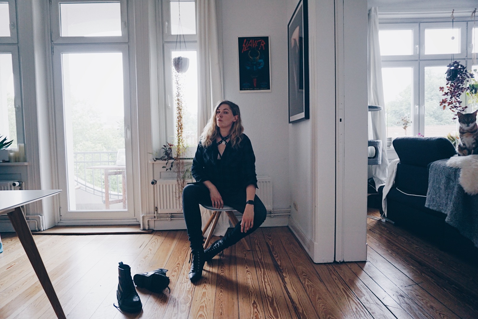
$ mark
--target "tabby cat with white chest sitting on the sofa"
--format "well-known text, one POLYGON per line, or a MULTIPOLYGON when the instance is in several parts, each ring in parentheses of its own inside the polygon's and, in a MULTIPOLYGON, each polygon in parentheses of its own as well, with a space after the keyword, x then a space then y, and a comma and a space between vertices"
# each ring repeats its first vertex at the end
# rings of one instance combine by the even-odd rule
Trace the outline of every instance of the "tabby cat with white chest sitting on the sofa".
POLYGON ((459 156, 478 154, 478 125, 477 112, 463 114, 458 112, 460 123, 460 144, 456 147, 459 156))

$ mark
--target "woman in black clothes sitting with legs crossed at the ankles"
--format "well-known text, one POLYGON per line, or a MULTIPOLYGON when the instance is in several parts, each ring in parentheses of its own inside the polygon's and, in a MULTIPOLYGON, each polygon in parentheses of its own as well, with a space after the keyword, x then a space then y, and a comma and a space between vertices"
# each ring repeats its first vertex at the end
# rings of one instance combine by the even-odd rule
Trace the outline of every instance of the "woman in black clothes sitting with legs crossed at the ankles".
POLYGON ((250 139, 243 131, 239 106, 221 101, 197 146, 191 168, 196 182, 183 190, 184 219, 191 243, 189 279, 192 282, 201 278, 205 261, 252 233, 266 219, 266 208, 256 195, 256 158, 250 139), (206 250, 199 204, 217 209, 226 204, 242 213, 241 223, 206 250))

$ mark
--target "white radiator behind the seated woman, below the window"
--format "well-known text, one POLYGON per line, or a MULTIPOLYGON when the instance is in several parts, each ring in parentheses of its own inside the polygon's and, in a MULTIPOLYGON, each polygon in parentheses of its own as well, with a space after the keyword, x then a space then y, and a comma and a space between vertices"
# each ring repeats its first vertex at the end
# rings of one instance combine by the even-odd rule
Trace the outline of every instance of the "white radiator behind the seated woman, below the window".
MULTIPOLYGON (((266 206, 268 211, 272 210, 272 179, 268 176, 257 177, 257 196, 266 206)), ((176 196, 178 187, 176 180, 159 179, 154 185, 154 206, 158 213, 179 213, 182 212, 181 195, 176 196)))

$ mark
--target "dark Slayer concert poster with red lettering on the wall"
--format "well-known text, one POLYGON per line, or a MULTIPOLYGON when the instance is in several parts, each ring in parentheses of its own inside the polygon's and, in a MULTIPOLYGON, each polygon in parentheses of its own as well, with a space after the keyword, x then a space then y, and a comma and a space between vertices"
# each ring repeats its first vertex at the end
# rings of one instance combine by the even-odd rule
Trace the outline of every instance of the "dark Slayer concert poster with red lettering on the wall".
POLYGON ((239 37, 239 92, 271 92, 269 37, 239 37))

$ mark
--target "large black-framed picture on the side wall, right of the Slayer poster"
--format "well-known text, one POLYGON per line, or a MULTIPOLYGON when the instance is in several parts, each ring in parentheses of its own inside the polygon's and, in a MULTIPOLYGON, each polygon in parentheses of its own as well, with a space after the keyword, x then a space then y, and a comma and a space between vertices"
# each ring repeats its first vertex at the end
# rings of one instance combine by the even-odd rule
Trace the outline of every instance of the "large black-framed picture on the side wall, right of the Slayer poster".
POLYGON ((307 0, 300 0, 287 24, 289 123, 309 119, 309 28, 307 0))

